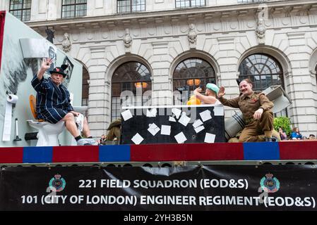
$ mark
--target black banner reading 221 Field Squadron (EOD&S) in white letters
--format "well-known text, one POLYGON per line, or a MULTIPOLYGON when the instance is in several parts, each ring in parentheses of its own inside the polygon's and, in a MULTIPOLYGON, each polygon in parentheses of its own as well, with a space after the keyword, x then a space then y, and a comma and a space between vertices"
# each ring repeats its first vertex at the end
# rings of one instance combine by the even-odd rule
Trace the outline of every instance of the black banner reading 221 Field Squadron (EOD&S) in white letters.
POLYGON ((8 167, 0 210, 316 211, 316 186, 311 165, 8 167))

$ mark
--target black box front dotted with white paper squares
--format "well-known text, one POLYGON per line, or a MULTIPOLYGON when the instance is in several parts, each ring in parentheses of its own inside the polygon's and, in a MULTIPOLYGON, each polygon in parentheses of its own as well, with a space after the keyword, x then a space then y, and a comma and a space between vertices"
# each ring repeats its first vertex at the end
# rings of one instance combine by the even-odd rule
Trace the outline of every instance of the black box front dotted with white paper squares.
POLYGON ((130 110, 130 117, 122 116, 121 113, 122 127, 121 127, 121 143, 122 144, 135 144, 132 141, 133 136, 136 134, 140 135, 143 141, 140 144, 145 143, 179 143, 175 136, 183 132, 186 137, 184 143, 210 143, 206 141, 206 134, 209 136, 214 136, 213 142, 226 142, 225 139, 225 122, 224 122, 224 110, 223 105, 195 105, 188 107, 189 105, 169 105, 165 107, 157 108, 146 108, 146 107, 129 107, 124 108, 123 113, 130 114, 126 112, 130 110), (152 113, 152 117, 149 117, 149 113, 153 112, 153 109, 156 110, 156 113, 152 113), (177 115, 173 112, 174 110, 181 110, 182 113, 186 113, 186 117, 190 117, 186 126, 181 124, 181 115, 177 115), (210 120, 203 121, 201 113, 210 111, 210 120), (174 122, 169 121, 170 117, 174 118, 174 122), (196 133, 193 122, 196 120, 201 120, 203 122, 204 129, 196 133), (149 125, 155 123, 157 127, 160 128, 160 131, 153 136, 149 129, 149 125), (170 134, 163 135, 161 134, 162 125, 170 126, 170 134))

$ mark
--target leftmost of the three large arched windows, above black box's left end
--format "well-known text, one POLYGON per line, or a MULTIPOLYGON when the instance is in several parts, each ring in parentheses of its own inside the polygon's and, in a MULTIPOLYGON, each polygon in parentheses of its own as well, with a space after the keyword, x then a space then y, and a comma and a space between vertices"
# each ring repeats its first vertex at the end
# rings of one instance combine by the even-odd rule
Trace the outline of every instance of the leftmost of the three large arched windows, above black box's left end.
POLYGON ((122 106, 150 104, 150 77, 150 70, 142 63, 128 62, 116 68, 112 75, 112 121, 120 117, 122 106))

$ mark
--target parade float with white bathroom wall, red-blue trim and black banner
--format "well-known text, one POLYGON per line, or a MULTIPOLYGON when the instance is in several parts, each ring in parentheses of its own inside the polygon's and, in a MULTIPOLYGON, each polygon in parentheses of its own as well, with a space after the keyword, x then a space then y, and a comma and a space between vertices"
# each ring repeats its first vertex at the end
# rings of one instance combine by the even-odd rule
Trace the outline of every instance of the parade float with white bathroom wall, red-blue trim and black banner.
POLYGON ((316 210, 316 141, 227 143, 244 122, 222 105, 124 108, 119 145, 74 146, 66 130, 39 145, 30 81, 44 57, 68 64, 80 108, 82 65, 0 12, 0 210, 316 210))

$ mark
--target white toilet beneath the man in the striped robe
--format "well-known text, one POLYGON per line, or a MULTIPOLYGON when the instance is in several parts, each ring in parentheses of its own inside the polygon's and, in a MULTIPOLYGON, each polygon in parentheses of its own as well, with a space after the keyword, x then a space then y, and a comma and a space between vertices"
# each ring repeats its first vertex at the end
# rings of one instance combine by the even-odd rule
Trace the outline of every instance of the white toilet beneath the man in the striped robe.
POLYGON ((59 121, 56 124, 35 120, 27 121, 31 127, 38 129, 36 146, 59 146, 59 134, 65 128, 64 121, 59 121))

